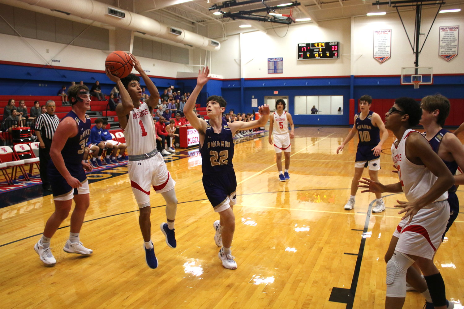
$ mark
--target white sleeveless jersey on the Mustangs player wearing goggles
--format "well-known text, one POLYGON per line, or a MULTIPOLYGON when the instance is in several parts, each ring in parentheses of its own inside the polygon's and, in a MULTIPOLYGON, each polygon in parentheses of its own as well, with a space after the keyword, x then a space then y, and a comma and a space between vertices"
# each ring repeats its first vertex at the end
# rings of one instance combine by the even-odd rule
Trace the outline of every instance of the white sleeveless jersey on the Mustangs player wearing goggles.
MULTIPOLYGON (((400 178, 401 187, 409 202, 414 202, 422 195, 427 193, 432 185, 437 181, 437 177, 425 167, 425 165, 417 165, 406 158, 406 138, 412 132, 418 132, 412 129, 406 130, 400 143, 395 147, 396 139, 392 145, 393 164, 398 169, 398 177, 400 178)), ((420 134, 420 132, 418 132, 420 134)), ((428 142, 427 142, 428 143, 428 142)), ((437 201, 444 201, 448 198, 448 192, 442 194, 437 201)))

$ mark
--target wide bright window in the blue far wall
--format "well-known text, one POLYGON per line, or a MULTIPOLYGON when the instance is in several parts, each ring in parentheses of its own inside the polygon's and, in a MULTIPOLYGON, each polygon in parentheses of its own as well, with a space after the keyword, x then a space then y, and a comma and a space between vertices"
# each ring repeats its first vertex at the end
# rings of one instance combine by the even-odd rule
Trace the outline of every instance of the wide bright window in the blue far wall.
POLYGON ((342 115, 343 95, 295 96, 295 115, 310 115, 313 106, 319 115, 342 115))

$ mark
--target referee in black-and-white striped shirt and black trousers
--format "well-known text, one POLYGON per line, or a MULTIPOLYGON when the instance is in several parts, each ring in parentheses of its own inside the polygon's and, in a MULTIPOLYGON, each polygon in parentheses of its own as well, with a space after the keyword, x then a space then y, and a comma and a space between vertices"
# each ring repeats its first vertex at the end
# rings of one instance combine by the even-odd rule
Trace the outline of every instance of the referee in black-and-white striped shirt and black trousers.
POLYGON ((51 192, 52 187, 48 182, 47 166, 50 161, 50 147, 59 119, 55 115, 55 101, 48 100, 45 104, 46 113, 39 115, 35 121, 35 135, 39 140, 40 178, 44 191, 51 192))

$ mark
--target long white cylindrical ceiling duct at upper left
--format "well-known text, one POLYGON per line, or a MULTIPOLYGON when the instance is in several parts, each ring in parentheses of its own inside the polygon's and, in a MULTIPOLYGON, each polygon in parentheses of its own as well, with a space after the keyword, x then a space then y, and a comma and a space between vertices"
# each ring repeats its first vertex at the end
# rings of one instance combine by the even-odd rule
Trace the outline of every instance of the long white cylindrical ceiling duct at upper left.
MULTIPOLYGON (((45 7, 51 10, 59 10, 64 13, 71 13, 71 15, 79 16, 84 19, 95 20, 101 23, 127 29, 131 31, 143 32, 155 37, 164 38, 173 42, 182 43, 197 47, 203 50, 219 50, 218 46, 210 44, 210 38, 203 37, 197 33, 190 32, 178 27, 173 33, 171 26, 162 24, 155 19, 146 16, 119 9, 115 6, 106 5, 102 2, 95 0, 79 0, 79 1, 62 1, 62 0, 19 0, 33 6, 45 7), (108 14, 108 8, 115 9, 121 12, 120 16, 108 14), (125 14, 123 18, 121 16, 125 14)), ((8 1, 2 1, 8 3, 8 1)), ((13 4, 12 4, 13 5, 13 4)), ((13 5, 14 6, 14 5, 13 5)), ((63 16, 63 18, 66 18, 63 16)))

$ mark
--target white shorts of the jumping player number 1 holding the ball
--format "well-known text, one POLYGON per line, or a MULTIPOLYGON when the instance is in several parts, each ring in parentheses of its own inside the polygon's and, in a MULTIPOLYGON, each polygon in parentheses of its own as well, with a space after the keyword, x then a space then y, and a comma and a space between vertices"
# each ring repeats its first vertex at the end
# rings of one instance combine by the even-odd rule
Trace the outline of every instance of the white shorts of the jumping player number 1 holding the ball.
POLYGON ((151 186, 156 193, 174 189, 175 181, 159 152, 145 160, 128 161, 127 169, 130 186, 140 208, 150 206, 151 186))

